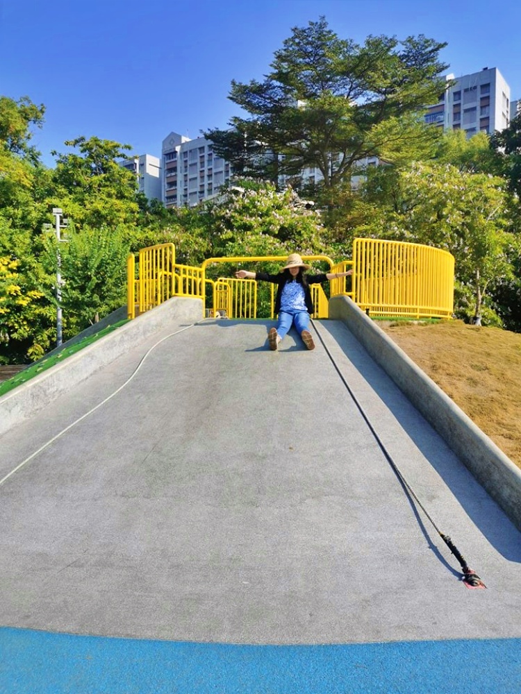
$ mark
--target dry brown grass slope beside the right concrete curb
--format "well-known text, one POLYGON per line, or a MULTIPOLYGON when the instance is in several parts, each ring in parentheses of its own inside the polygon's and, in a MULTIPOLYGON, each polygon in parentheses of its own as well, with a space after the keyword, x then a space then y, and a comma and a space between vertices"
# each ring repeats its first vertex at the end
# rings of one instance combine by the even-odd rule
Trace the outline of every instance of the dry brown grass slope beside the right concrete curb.
POLYGON ((521 468, 521 335, 443 323, 379 323, 521 468))

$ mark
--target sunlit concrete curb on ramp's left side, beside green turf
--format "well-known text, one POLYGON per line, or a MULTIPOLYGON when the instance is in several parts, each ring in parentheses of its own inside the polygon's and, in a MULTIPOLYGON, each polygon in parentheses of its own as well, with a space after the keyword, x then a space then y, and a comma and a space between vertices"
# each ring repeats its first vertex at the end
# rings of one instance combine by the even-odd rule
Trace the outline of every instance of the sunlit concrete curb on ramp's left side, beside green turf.
POLYGON ((201 320, 202 316, 201 299, 171 298, 67 357, 63 363, 51 366, 27 383, 19 385, 0 397, 0 436, 163 328, 165 321, 179 319, 193 323, 201 320))

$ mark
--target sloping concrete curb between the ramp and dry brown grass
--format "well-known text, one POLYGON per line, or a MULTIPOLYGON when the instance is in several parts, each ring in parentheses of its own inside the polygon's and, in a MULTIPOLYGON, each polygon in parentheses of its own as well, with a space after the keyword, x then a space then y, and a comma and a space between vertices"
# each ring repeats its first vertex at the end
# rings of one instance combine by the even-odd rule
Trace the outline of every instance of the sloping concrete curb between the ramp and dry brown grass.
POLYGON ((520 468, 349 297, 331 298, 329 317, 347 325, 521 530, 520 468))

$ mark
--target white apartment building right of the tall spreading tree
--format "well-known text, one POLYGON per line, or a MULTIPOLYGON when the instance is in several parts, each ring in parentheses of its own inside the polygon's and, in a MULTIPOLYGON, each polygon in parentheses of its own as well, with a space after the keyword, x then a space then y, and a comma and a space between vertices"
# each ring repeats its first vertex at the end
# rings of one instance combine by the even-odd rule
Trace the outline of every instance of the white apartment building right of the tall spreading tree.
POLYGON ((446 76, 447 82, 454 80, 440 95, 436 105, 429 106, 425 121, 444 130, 465 130, 472 137, 479 130, 494 133, 503 130, 510 122, 510 87, 497 67, 483 67, 455 78, 446 76))

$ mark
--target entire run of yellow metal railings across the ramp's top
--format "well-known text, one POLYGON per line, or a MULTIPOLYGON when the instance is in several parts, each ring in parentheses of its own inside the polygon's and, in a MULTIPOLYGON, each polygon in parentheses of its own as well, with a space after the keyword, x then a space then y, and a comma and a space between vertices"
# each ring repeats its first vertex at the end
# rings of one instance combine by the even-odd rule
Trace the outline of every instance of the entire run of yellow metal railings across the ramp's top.
MULTIPOLYGON (((286 256, 212 257, 200 268, 176 264, 173 244, 142 248, 139 253, 138 279, 135 260, 129 255, 127 264, 127 303, 129 318, 158 306, 172 296, 190 296, 203 302, 206 313, 206 283, 213 287, 213 306, 229 318, 254 319, 257 316, 257 282, 235 278, 206 278, 210 264, 254 262, 286 262, 286 256)), ((325 261, 331 273, 353 268, 351 277, 330 281, 331 296, 351 296, 369 314, 380 316, 425 316, 449 318, 454 305, 454 257, 431 246, 379 239, 355 239, 352 260, 334 264, 326 255, 305 255, 305 262, 325 261), (347 289, 351 287, 351 289, 347 289)), ((276 285, 271 287, 271 317, 274 317, 276 285)), ((315 305, 314 318, 327 318, 328 299, 321 285, 311 285, 315 305)))

